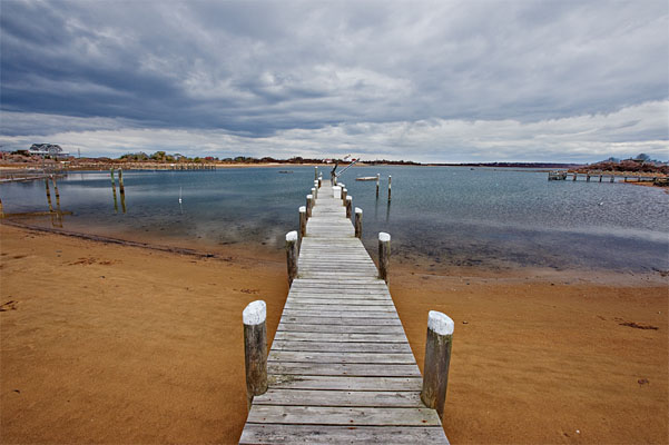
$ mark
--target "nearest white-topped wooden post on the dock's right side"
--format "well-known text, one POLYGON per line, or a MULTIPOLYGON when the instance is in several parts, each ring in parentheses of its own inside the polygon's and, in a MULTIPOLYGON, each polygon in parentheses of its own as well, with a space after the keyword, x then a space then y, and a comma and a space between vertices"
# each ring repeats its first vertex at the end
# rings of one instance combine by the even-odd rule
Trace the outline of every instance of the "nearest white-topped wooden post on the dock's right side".
POLYGON ((455 324, 447 315, 430 310, 421 400, 429 408, 436 409, 440 418, 444 414, 446 400, 454 327, 455 324))

